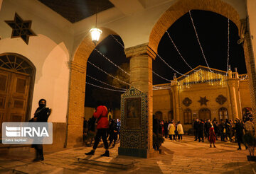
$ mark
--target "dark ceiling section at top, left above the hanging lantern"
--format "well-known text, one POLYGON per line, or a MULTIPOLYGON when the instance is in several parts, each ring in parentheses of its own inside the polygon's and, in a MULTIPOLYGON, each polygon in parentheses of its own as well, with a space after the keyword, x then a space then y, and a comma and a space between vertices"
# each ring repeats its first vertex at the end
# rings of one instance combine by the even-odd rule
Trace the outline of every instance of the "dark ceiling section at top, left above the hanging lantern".
POLYGON ((108 0, 38 0, 71 23, 78 22, 114 5, 108 0))

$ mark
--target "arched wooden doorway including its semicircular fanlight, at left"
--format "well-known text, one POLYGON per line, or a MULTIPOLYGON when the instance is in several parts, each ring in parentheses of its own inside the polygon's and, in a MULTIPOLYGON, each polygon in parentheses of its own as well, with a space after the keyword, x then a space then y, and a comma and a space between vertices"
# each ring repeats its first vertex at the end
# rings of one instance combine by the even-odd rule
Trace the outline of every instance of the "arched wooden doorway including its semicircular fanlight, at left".
POLYGON ((26 122, 36 68, 20 54, 0 54, 0 127, 2 122, 26 122))

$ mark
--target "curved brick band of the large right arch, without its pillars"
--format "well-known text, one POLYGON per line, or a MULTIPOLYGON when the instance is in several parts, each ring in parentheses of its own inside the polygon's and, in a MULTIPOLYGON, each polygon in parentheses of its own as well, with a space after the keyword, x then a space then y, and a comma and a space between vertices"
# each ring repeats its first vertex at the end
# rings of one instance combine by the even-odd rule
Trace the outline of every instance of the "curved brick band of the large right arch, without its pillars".
POLYGON ((159 42, 166 30, 168 30, 178 18, 181 18, 181 16, 185 15, 190 10, 212 11, 226 18, 230 18, 230 20, 237 25, 238 33, 240 33, 240 17, 233 6, 221 0, 179 0, 162 14, 159 21, 156 22, 154 28, 151 30, 149 35, 149 47, 151 50, 157 53, 159 42))

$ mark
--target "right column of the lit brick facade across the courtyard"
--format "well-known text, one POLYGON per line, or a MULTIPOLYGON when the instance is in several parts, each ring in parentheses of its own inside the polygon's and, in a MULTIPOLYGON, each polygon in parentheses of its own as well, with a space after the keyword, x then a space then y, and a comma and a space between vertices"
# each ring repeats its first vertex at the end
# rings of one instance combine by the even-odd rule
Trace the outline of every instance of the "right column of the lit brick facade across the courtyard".
POLYGON ((236 74, 233 74, 231 70, 228 70, 228 89, 230 92, 230 102, 231 102, 231 108, 232 108, 232 117, 233 120, 235 118, 241 118, 241 113, 239 112, 241 110, 241 105, 240 105, 240 98, 239 98, 239 79, 236 74), (239 106, 240 105, 240 106, 239 106), (240 109, 240 110, 239 110, 240 109))

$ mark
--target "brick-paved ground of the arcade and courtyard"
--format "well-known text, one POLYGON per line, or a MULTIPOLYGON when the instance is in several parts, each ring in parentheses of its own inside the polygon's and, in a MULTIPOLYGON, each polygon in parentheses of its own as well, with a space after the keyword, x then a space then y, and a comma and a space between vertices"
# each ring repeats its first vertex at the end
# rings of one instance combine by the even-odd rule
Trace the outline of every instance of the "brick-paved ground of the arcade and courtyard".
POLYGON ((38 163, 32 163, 31 156, 24 153, 0 158, 0 173, 256 173, 256 162, 247 161, 248 151, 244 146, 242 151, 237 151, 237 144, 230 142, 217 141, 216 146, 209 148, 207 142, 199 143, 185 136, 182 142, 166 140, 161 146, 162 153, 156 158, 117 156, 117 146, 110 149, 110 158, 100 157, 104 152, 102 147, 93 157, 120 163, 136 161, 130 170, 76 163, 75 157, 84 156, 90 147, 48 153, 45 161, 38 163))

